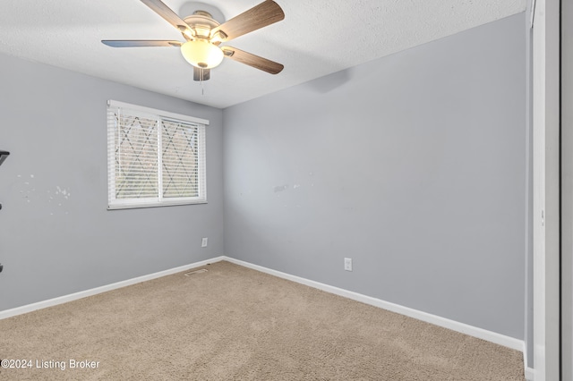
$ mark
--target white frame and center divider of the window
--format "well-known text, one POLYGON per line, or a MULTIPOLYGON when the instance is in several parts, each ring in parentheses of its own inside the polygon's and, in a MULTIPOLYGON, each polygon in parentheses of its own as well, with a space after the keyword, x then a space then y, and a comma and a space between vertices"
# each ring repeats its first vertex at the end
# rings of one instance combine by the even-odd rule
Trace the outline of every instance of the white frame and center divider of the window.
POLYGON ((206 147, 206 126, 209 120, 201 119, 184 114, 176 114, 156 108, 137 106, 129 103, 119 102, 116 100, 107 101, 107 210, 131 209, 140 207, 168 207, 177 205, 207 204, 207 147, 206 147), (115 130, 116 123, 110 119, 110 110, 128 110, 135 114, 146 114, 157 119, 158 125, 158 196, 152 198, 133 198, 133 199, 116 199, 115 194, 115 130), (169 197, 163 196, 163 165, 162 165, 162 121, 192 123, 197 125, 197 150, 198 150, 198 192, 196 197, 169 197))

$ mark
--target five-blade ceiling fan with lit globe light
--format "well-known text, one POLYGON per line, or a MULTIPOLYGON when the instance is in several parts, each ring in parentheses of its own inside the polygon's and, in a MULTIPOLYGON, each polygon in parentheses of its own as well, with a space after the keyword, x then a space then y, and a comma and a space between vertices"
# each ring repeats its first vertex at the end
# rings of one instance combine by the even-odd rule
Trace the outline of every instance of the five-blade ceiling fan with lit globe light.
POLYGON ((179 30, 185 42, 154 39, 105 39, 101 42, 108 47, 180 47, 185 60, 193 66, 193 80, 209 80, 210 69, 218 66, 224 57, 271 74, 278 74, 284 68, 280 63, 235 47, 220 46, 253 30, 283 20, 285 13, 272 0, 266 0, 222 24, 205 11, 195 11, 191 16, 181 19, 161 0, 141 0, 141 3, 149 6, 153 12, 179 30))

